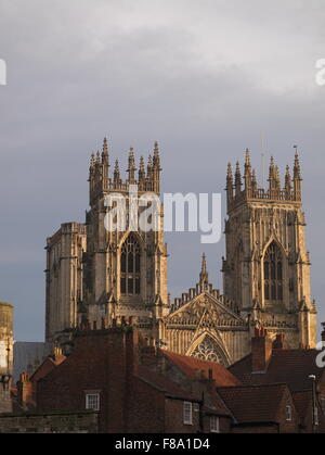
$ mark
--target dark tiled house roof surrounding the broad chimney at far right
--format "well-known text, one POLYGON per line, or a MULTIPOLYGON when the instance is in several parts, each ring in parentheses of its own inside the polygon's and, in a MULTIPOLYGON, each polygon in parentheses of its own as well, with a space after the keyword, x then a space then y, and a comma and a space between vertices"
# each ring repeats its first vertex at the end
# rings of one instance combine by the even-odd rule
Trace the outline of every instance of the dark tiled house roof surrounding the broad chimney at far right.
POLYGON ((310 390, 310 375, 317 379, 324 368, 316 365, 317 350, 273 350, 265 372, 251 372, 251 354, 232 365, 229 370, 244 384, 287 383, 291 392, 310 390))

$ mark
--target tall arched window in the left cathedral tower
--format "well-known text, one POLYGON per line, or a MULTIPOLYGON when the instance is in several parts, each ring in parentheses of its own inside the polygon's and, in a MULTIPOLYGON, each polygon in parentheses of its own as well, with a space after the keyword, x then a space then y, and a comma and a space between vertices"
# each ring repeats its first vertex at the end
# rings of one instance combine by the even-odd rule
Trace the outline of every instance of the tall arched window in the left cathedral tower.
POLYGON ((127 238, 120 254, 120 292, 122 294, 141 293, 141 250, 133 233, 127 238))

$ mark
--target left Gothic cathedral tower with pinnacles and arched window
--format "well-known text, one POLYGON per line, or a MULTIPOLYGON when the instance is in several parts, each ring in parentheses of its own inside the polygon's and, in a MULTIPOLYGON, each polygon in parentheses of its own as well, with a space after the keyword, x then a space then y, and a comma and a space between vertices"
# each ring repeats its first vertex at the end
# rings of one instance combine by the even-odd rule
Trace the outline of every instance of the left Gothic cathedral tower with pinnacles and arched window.
POLYGON ((145 169, 141 156, 136 173, 133 149, 128 160, 128 178, 121 179, 116 161, 113 176, 109 173, 107 140, 102 153, 92 154, 89 169, 90 210, 87 212, 87 253, 83 257, 83 299, 79 305, 79 321, 108 325, 131 321, 147 336, 156 333, 156 323, 168 313, 167 248, 164 242, 162 207, 158 231, 144 232, 107 230, 107 195, 121 194, 129 213, 134 190, 139 200, 144 193, 160 193, 160 157, 155 143, 153 157, 145 169), (138 175, 136 175, 138 174, 138 175), (131 191, 131 192, 130 192, 131 191), (130 195, 132 193, 132 195, 130 195))

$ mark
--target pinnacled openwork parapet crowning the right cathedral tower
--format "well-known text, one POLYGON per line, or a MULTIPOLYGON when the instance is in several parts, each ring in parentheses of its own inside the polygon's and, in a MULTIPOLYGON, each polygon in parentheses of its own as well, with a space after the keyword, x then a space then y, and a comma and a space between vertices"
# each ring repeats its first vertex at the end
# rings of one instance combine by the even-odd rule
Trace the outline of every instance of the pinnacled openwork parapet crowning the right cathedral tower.
POLYGON ((243 201, 272 201, 301 203, 301 173, 299 156, 296 152, 294 163, 294 177, 291 178, 289 166, 286 167, 285 184, 282 187, 278 167, 273 156, 269 167, 269 188, 260 188, 257 182, 256 172, 250 164, 250 152, 246 150, 244 177, 242 178, 239 163, 236 163, 236 170, 233 175, 232 165, 227 165, 226 175, 226 201, 227 212, 231 212, 243 201), (243 189, 244 186, 244 189, 243 189))

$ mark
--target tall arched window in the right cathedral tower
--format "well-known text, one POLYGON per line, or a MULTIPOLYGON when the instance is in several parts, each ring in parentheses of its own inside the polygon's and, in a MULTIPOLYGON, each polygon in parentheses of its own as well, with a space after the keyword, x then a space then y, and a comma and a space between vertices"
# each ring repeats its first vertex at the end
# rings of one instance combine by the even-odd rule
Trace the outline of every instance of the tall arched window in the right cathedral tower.
POLYGON ((275 242, 271 243, 264 256, 264 299, 283 301, 283 258, 275 242))

